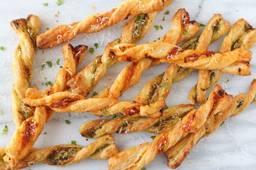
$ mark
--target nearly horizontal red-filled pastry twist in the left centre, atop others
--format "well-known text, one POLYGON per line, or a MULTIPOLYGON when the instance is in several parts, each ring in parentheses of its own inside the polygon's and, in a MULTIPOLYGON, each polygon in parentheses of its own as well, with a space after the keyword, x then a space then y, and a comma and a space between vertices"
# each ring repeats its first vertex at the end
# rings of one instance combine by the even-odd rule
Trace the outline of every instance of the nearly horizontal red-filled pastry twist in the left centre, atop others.
POLYGON ((23 99, 24 104, 30 107, 48 106, 52 110, 75 113, 91 113, 99 117, 121 113, 124 116, 161 117, 161 109, 165 108, 165 100, 150 105, 133 102, 118 102, 110 98, 85 98, 70 92, 58 92, 45 95, 37 89, 29 88, 23 99))

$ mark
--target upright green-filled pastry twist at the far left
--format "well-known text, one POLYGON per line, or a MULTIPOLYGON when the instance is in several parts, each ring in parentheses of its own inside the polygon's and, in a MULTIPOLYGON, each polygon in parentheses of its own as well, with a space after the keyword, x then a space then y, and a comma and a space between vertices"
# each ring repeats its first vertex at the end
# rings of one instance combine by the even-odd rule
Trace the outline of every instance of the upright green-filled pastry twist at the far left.
POLYGON ((14 86, 12 87, 12 110, 16 128, 28 117, 33 116, 34 109, 24 106, 22 99, 29 87, 33 75, 32 61, 35 57, 35 48, 38 31, 41 26, 37 15, 28 15, 26 19, 20 18, 10 22, 12 29, 17 33, 20 42, 14 52, 12 72, 14 86))

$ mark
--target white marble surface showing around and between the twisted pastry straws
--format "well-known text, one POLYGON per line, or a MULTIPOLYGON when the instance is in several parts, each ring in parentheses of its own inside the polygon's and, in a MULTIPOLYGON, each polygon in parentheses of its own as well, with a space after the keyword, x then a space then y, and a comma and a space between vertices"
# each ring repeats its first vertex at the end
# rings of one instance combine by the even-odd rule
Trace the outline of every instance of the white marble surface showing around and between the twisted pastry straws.
MULTIPOLYGON (((11 72, 13 61, 13 54, 15 47, 18 44, 18 36, 11 29, 9 22, 12 19, 26 18, 28 14, 35 14, 41 18, 42 25, 40 33, 46 31, 46 28, 52 28, 59 24, 70 24, 81 21, 88 14, 105 12, 111 8, 119 5, 122 0, 64 0, 64 4, 58 6, 57 0, 1 0, 0 1, 0 46, 4 46, 6 51, 0 50, 0 109, 3 114, 0 115, 0 131, 5 125, 8 125, 9 131, 5 135, 0 136, 0 147, 5 147, 15 130, 15 125, 12 119, 11 109, 11 88, 14 77, 11 72), (48 6, 43 6, 43 3, 49 3, 48 6), (95 9, 92 8, 95 6, 95 9), (55 17, 59 11, 58 17, 55 17), (56 22, 58 20, 58 22, 56 22)), ((213 14, 220 13, 223 18, 232 25, 239 18, 244 18, 253 27, 256 27, 256 1, 255 0, 175 0, 168 10, 169 15, 164 15, 163 12, 157 14, 154 25, 162 25, 163 30, 156 31, 154 27, 148 32, 148 35, 140 42, 146 43, 163 36, 169 29, 171 29, 170 21, 175 12, 180 8, 186 8, 190 14, 190 20, 196 20, 203 24, 213 16, 213 14), (199 7, 201 6, 201 8, 199 7), (165 16, 165 21, 162 18, 165 16)), ((70 43, 72 45, 85 44, 93 47, 95 42, 99 43, 99 48, 94 51, 94 54, 87 53, 84 61, 79 65, 79 69, 87 65, 96 55, 102 54, 105 45, 120 36, 122 26, 126 21, 116 24, 100 33, 91 35, 79 35, 70 43)), ((201 27, 201 30, 203 28, 201 27)), ((218 51, 223 38, 210 45, 209 49, 218 51)), ((47 87, 42 86, 41 83, 46 81, 55 81, 55 75, 59 67, 56 65, 57 59, 62 61, 61 45, 50 50, 38 50, 34 60, 34 77, 31 81, 31 87, 39 87, 44 91, 47 87), (48 60, 54 63, 53 68, 44 68, 41 71, 41 65, 48 60), (44 80, 47 77, 47 80, 44 80)), ((256 47, 251 48, 253 51, 253 59, 251 61, 251 75, 248 77, 241 77, 236 75, 222 74, 219 84, 224 87, 227 93, 238 95, 239 93, 247 92, 253 78, 256 78, 256 47), (229 83, 226 80, 229 79, 229 83)), ((104 87, 113 83, 120 70, 127 65, 127 63, 118 63, 110 68, 107 75, 95 87, 95 91, 99 92, 104 87), (111 80, 109 80, 111 79, 111 80)), ((139 92, 142 86, 154 76, 165 71, 167 65, 162 64, 154 66, 143 73, 141 81, 134 87, 128 89, 123 93, 120 101, 132 101, 134 96, 139 92)), ((168 96, 167 105, 173 106, 181 103, 188 103, 187 94, 192 86, 197 81, 197 71, 192 72, 189 77, 184 80, 174 83, 170 95, 168 96)), ((251 104, 244 113, 230 117, 225 123, 212 135, 201 139, 187 158, 177 169, 256 169, 256 104, 251 104)), ((87 145, 95 140, 81 138, 78 132, 79 126, 88 120, 96 119, 96 116, 80 113, 72 113, 71 117, 67 113, 55 113, 52 119, 46 124, 44 131, 47 134, 41 134, 35 147, 43 149, 57 144, 69 144, 72 140, 76 140, 79 145, 87 145), (65 124, 65 120, 70 120, 70 125, 65 124)), ((137 132, 128 135, 113 134, 116 138, 116 144, 120 150, 131 146, 137 146, 143 142, 150 142, 152 134, 147 132, 137 132)), ((158 155, 153 162, 145 165, 147 170, 153 169, 168 169, 166 166, 167 159, 164 153, 158 155)), ((64 168, 52 167, 45 164, 36 164, 33 169, 107 169, 107 160, 93 160, 85 159, 79 164, 72 164, 64 168)))

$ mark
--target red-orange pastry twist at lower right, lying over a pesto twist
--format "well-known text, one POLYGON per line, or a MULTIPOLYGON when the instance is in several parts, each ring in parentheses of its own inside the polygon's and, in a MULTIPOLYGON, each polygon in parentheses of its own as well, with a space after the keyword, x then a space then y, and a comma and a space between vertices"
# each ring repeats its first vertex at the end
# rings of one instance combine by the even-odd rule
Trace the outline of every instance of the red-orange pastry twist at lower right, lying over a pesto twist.
POLYGON ((175 128, 157 135, 152 143, 144 143, 140 146, 123 150, 116 156, 111 157, 108 160, 108 168, 111 170, 139 170, 151 162, 157 154, 166 151, 177 143, 181 137, 200 129, 211 115, 230 111, 228 107, 230 101, 232 101, 232 95, 227 95, 220 86, 216 85, 210 93, 208 101, 198 109, 190 111, 175 128))

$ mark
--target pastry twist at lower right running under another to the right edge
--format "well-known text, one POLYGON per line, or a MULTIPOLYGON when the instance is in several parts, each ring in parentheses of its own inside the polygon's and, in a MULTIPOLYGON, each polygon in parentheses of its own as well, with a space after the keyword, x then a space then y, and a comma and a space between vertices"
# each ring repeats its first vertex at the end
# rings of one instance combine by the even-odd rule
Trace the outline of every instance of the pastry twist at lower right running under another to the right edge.
POLYGON ((251 102, 256 101, 256 79, 251 82, 248 93, 242 93, 235 96, 230 102, 230 112, 222 112, 210 116, 204 126, 198 131, 188 134, 186 137, 178 141, 174 146, 166 151, 168 157, 168 166, 172 169, 177 168, 182 161, 186 158, 192 147, 204 136, 210 135, 215 132, 219 125, 229 116, 236 116, 244 111, 251 102))

